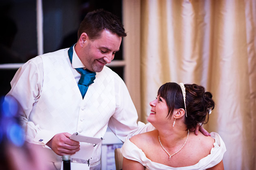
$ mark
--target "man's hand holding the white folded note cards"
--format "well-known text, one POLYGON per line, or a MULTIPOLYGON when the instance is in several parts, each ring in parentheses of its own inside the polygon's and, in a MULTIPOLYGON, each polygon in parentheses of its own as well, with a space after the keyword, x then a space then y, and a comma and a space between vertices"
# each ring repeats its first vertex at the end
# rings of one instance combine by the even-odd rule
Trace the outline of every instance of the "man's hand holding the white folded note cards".
POLYGON ((80 150, 80 145, 79 142, 69 139, 69 136, 71 134, 67 132, 56 134, 46 145, 57 155, 73 155, 80 150))

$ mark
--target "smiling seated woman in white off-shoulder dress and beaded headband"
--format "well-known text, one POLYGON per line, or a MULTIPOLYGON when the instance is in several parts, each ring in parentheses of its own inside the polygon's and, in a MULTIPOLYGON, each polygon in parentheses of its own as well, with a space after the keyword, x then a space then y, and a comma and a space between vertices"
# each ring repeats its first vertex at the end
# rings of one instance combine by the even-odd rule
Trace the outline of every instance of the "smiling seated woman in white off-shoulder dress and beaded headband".
POLYGON ((128 136, 121 148, 123 170, 224 169, 226 147, 219 134, 190 131, 208 122, 215 106, 210 92, 196 84, 165 83, 150 106, 148 121, 156 130, 128 136))

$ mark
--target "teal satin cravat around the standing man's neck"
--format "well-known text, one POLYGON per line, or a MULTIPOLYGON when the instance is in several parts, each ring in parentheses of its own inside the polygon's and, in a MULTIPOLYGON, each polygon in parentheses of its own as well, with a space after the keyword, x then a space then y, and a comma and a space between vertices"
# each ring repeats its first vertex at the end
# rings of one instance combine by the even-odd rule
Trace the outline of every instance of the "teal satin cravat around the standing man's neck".
MULTIPOLYGON (((68 56, 71 64, 72 64, 74 45, 72 45, 68 50, 68 56)), ((80 80, 78 81, 78 88, 82 94, 82 98, 84 98, 89 85, 92 84, 93 80, 95 79, 96 73, 87 69, 84 70, 83 68, 76 68, 76 70, 81 73, 80 80)))

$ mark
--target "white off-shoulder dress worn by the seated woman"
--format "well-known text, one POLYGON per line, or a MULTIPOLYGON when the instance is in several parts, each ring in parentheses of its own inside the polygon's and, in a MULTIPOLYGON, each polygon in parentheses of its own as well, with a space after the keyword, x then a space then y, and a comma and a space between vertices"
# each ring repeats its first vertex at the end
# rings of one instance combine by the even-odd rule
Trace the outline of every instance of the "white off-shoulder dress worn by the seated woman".
POLYGON ((226 152, 226 146, 219 134, 215 132, 211 132, 210 134, 211 137, 215 139, 215 142, 213 143, 214 147, 211 149, 209 155, 200 159, 197 164, 192 166, 174 168, 153 162, 146 157, 145 153, 141 149, 130 142, 129 139, 131 136, 126 138, 123 147, 121 147, 121 153, 127 159, 141 163, 143 166, 145 166, 146 170, 205 170, 219 164, 219 162, 223 159, 224 153, 226 152))

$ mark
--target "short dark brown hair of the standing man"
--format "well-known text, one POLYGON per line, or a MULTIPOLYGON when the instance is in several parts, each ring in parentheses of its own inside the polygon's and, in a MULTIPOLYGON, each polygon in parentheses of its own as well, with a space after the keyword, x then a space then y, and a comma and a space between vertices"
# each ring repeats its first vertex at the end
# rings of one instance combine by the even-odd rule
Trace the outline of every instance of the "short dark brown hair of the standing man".
POLYGON ((102 30, 109 30, 120 37, 125 37, 126 32, 121 21, 114 14, 103 9, 87 13, 80 23, 78 39, 85 32, 91 40, 99 38, 102 30))

